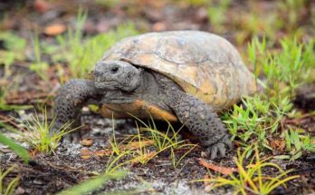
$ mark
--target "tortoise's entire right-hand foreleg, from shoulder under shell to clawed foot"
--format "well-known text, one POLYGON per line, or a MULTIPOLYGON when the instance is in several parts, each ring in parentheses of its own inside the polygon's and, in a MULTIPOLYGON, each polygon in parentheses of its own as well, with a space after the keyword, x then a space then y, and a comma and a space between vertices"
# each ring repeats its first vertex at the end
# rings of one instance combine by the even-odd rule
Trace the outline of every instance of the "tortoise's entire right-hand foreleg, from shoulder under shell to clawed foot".
POLYGON ((160 87, 167 94, 167 105, 176 113, 180 122, 196 135, 211 159, 224 157, 226 146, 232 148, 230 135, 211 106, 183 92, 176 83, 156 73, 160 87))

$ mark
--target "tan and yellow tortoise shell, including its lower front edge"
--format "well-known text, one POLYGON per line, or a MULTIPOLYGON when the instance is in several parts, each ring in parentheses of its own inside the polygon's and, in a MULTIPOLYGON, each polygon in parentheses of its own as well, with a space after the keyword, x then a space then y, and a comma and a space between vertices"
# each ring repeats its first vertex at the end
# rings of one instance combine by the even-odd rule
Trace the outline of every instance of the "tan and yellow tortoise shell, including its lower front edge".
MULTIPOLYGON (((243 95, 256 92, 253 73, 243 64, 240 54, 215 34, 171 31, 132 36, 115 44, 101 60, 124 60, 162 73, 216 111, 239 101, 243 95)), ((139 100, 133 105, 105 105, 102 112, 108 115, 112 111, 152 110, 151 106, 152 103, 139 100)), ((157 118, 171 114, 156 107, 153 110, 157 118)), ((174 121, 174 117, 167 118, 174 121)))

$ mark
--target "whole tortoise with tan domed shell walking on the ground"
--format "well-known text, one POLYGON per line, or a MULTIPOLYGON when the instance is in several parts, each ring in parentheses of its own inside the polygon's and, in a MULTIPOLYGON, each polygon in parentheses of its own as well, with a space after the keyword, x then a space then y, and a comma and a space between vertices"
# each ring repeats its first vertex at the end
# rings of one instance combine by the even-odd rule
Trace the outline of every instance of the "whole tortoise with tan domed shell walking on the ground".
POLYGON ((256 91, 234 46, 201 31, 131 36, 96 63, 91 79, 65 83, 55 98, 55 129, 81 123, 81 108, 99 104, 104 117, 153 116, 182 122, 211 159, 224 156, 230 135, 217 112, 256 91))

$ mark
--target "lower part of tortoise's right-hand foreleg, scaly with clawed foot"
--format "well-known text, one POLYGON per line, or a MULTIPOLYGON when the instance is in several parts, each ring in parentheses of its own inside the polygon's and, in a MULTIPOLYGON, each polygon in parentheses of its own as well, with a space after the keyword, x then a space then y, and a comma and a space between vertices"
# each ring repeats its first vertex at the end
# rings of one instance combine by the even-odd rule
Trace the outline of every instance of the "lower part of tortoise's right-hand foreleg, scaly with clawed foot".
POLYGON ((230 135, 213 109, 189 94, 183 95, 173 107, 180 122, 193 132, 211 159, 224 157, 226 146, 232 148, 230 135))

